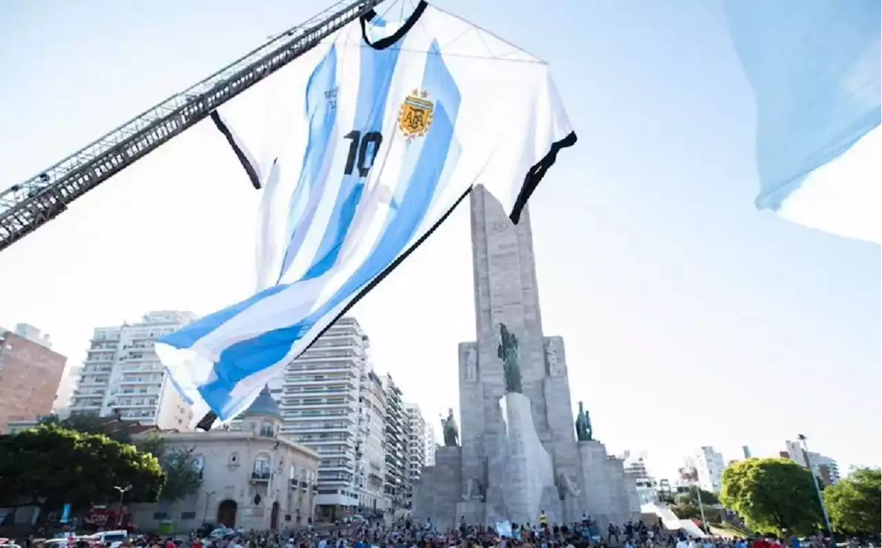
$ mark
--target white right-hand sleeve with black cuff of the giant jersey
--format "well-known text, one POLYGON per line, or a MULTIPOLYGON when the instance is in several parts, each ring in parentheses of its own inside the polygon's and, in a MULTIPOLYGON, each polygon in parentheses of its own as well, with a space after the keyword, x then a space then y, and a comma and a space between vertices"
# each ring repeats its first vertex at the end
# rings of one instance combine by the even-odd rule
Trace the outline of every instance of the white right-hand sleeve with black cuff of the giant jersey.
POLYGON ((476 183, 483 184, 517 223, 558 152, 576 143, 576 133, 547 64, 534 64, 507 83, 499 95, 509 91, 509 96, 497 101, 485 123, 497 129, 491 133, 495 145, 476 183))

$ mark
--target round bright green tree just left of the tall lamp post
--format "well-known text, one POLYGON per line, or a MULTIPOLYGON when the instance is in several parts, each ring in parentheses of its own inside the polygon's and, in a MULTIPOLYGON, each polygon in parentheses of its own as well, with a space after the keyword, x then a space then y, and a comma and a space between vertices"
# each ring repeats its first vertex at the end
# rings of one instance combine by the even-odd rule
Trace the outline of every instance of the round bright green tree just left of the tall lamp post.
POLYGON ((811 472, 787 459, 732 464, 723 470, 720 500, 763 533, 808 535, 823 529, 811 472))

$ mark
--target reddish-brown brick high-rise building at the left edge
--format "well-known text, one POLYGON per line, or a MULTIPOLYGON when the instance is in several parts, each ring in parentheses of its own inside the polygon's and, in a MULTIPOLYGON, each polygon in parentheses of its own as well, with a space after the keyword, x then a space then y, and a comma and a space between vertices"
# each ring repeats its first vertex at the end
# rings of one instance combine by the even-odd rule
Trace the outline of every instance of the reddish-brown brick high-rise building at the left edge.
POLYGON ((12 421, 49 415, 67 358, 51 349, 48 335, 27 324, 0 330, 0 432, 12 421))

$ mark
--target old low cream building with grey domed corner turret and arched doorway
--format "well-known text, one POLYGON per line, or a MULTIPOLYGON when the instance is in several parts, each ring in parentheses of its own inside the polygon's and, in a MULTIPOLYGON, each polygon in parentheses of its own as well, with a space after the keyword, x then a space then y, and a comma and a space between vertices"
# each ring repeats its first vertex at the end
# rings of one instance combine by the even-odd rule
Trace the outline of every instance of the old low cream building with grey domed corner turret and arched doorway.
POLYGON ((238 432, 160 434, 167 451, 193 450, 202 485, 170 505, 134 505, 138 527, 158 530, 170 521, 178 532, 197 529, 203 522, 279 530, 312 523, 318 454, 281 435, 281 413, 267 389, 239 418, 238 432))

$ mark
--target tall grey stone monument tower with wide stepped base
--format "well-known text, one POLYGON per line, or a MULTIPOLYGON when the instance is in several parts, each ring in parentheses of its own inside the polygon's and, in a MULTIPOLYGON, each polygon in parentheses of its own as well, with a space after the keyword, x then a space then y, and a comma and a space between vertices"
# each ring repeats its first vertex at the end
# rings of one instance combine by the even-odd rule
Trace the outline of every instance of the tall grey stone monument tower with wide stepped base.
POLYGON ((636 485, 597 441, 577 441, 564 341, 542 333, 527 209, 517 225, 482 187, 470 197, 476 342, 460 343, 461 447, 445 443, 415 485, 413 516, 445 529, 497 520, 604 522, 639 517, 636 485), (517 394, 501 333, 513 334, 517 394))

